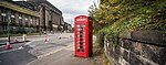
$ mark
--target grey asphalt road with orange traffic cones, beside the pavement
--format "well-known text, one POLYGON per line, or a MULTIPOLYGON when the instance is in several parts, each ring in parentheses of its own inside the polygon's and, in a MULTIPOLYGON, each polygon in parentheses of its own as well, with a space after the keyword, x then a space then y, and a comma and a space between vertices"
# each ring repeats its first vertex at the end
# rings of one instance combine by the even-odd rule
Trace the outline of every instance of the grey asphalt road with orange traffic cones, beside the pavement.
POLYGON ((73 46, 72 33, 28 36, 30 42, 11 44, 12 48, 0 46, 0 65, 25 65, 73 46), (45 41, 48 39, 48 41, 45 41))

